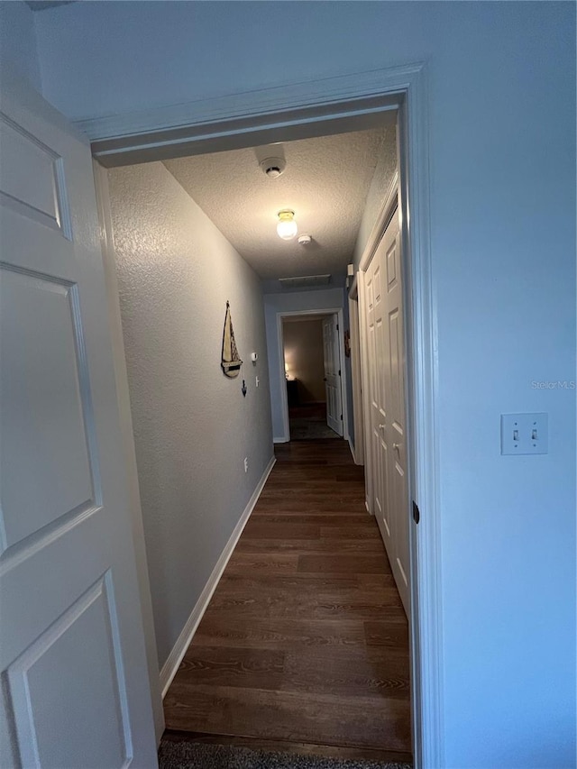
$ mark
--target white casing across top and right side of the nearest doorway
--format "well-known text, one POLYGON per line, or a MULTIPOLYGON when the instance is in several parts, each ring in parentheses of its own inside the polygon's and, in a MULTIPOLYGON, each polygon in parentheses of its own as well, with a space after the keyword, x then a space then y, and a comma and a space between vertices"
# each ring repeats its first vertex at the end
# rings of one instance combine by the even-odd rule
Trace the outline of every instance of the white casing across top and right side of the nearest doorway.
MULTIPOLYGON (((420 586, 419 600, 411 603, 411 638, 412 638, 412 660, 413 660, 413 686, 417 693, 416 708, 414 710, 415 720, 413 733, 415 735, 416 760, 419 762, 422 755, 429 756, 427 763, 434 763, 437 755, 438 737, 440 736, 438 715, 438 691, 439 691, 439 666, 436 655, 437 649, 437 615, 438 604, 437 580, 438 570, 436 568, 436 518, 434 509, 437 498, 436 472, 435 472, 435 422, 434 422, 434 391, 432 382, 434 381, 435 362, 433 358, 433 345, 431 335, 434 326, 430 322, 432 307, 429 298, 429 271, 428 271, 428 252, 426 235, 426 200, 427 200, 427 171, 426 171, 426 120, 420 120, 420 117, 426 113, 426 100, 423 96, 423 82, 419 74, 420 68, 404 70, 401 72, 389 73, 389 79, 386 78, 386 85, 380 86, 380 96, 369 98, 366 96, 366 104, 362 100, 357 100, 355 105, 345 106, 343 100, 336 101, 331 106, 334 115, 326 116, 326 104, 321 102, 319 97, 313 99, 315 106, 312 109, 304 109, 294 121, 293 127, 286 121, 274 124, 273 127, 260 128, 254 135, 259 134, 264 141, 278 141, 279 138, 289 137, 293 128, 299 132, 303 130, 313 130, 312 124, 316 123, 315 131, 319 131, 319 123, 324 123, 320 131, 327 129, 334 121, 343 120, 342 115, 346 114, 345 121, 355 122, 357 126, 362 124, 366 115, 371 114, 374 119, 375 114, 383 111, 389 111, 391 106, 399 109, 400 125, 400 145, 399 162, 401 173, 399 197, 405 216, 402 220, 405 243, 408 247, 408 260, 406 271, 408 274, 406 293, 410 296, 408 302, 406 317, 408 320, 408 335, 411 344, 408 345, 408 392, 410 395, 410 426, 414 428, 414 441, 409 445, 408 452, 411 454, 412 462, 408 462, 408 477, 410 479, 410 496, 413 499, 420 499, 421 506, 427 504, 431 516, 425 518, 425 526, 421 526, 421 536, 417 542, 416 537, 411 535, 411 548, 414 553, 411 555, 411 575, 416 576, 417 580, 412 580, 413 590, 420 586), (400 79, 399 79, 400 78, 400 79), (371 102, 371 104, 370 104, 371 102), (318 104, 317 104, 318 103, 318 104), (322 106, 320 106, 322 104, 322 106), (335 106, 336 105, 336 106, 335 106), (325 112, 321 115, 315 111, 320 109, 325 112), (408 124, 408 111, 411 114, 411 124, 408 124), (340 111, 340 112, 339 112, 340 111), (338 117, 336 116, 338 114, 338 117), (324 120, 323 120, 324 118, 324 120), (282 125, 281 125, 282 123, 282 125), (308 128, 307 128, 308 126, 308 128), (411 154, 411 166, 408 165, 408 151, 411 154), (409 185, 411 193, 409 195, 409 185), (409 202, 410 202, 410 228, 409 228, 409 202), (418 419, 416 415, 418 414, 418 419), (418 558, 417 558, 418 549, 418 558), (421 572, 417 571, 417 563, 421 572), (431 664, 433 663, 433 664, 431 664), (427 685, 423 688, 421 685, 421 676, 426 678, 427 685), (423 699, 425 695, 425 699, 423 699), (423 735, 425 734, 425 741, 423 735)), ((338 78, 337 78, 338 79, 338 78)), ((349 83, 347 87, 351 87, 349 83)), ((362 85, 357 84, 362 90, 362 85)), ((325 97, 325 96, 324 96, 325 97)), ((234 123, 234 121, 233 121, 234 123)), ((270 115, 269 115, 269 125, 270 115)), ((207 148, 211 145, 215 149, 223 149, 226 142, 243 142, 246 146, 247 132, 246 126, 243 130, 237 130, 234 126, 228 126, 226 130, 221 131, 216 136, 215 132, 210 133, 210 122, 206 123, 202 129, 196 129, 196 135, 190 135, 187 142, 182 141, 182 129, 180 129, 179 154, 183 155, 194 146, 195 152, 209 151, 207 148), (243 135, 242 135, 243 134, 243 135), (204 145, 204 149, 202 149, 204 145)), ((249 132, 250 133, 250 132, 249 132)), ((164 141, 160 148, 159 135, 153 142, 147 143, 146 138, 138 140, 138 147, 135 145, 128 147, 126 140, 114 140, 112 142, 96 142, 96 154, 103 160, 107 160, 110 165, 119 165, 122 163, 122 156, 133 152, 131 162, 140 160, 152 160, 166 158, 169 151, 170 132, 164 133, 164 141), (166 141, 168 140, 168 141, 166 141), (123 146, 124 144, 124 146, 123 146), (152 146, 154 145, 154 146, 152 146), (128 147, 128 149, 127 149, 128 147), (159 149, 160 148, 160 149, 159 149), (152 155, 156 153, 156 158, 152 155), (160 153, 160 154, 159 154, 160 153), (114 157, 115 156, 115 157, 114 157), (112 160, 112 161, 111 161, 112 160), (120 162, 118 162, 120 160, 120 162)), ((294 134, 293 134, 294 135, 294 134)), ((301 133, 302 135, 302 133, 301 133)), ((318 133, 316 134, 318 135, 318 133)), ((176 137, 175 137, 176 142, 176 137)), ((253 142, 252 146, 253 146, 253 142)), ((283 381, 286 381, 285 371, 280 375, 283 381)), ((283 388, 285 389, 285 388, 283 388)), ((364 390, 363 390, 364 392, 364 390)), ((285 389, 286 398, 286 389, 285 389)), ((366 431, 366 428, 365 428, 366 431)), ((365 453, 367 445, 364 446, 365 453)))

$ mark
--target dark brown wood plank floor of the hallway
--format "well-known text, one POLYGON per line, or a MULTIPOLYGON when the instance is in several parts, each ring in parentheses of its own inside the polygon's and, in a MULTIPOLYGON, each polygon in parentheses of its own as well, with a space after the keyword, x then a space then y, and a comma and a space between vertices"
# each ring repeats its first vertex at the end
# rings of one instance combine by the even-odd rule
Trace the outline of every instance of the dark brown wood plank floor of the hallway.
POLYGON ((164 700, 200 741, 410 760, 408 622, 344 441, 277 464, 164 700))

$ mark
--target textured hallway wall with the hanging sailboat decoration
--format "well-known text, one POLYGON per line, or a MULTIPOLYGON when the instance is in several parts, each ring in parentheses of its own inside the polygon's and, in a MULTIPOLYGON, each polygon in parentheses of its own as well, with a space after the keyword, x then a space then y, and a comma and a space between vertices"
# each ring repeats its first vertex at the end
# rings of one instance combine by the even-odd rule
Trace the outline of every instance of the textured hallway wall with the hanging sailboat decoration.
POLYGON ((252 269, 162 164, 109 179, 161 666, 272 455, 262 296, 252 269), (236 380, 220 368, 227 299, 244 361, 236 380))

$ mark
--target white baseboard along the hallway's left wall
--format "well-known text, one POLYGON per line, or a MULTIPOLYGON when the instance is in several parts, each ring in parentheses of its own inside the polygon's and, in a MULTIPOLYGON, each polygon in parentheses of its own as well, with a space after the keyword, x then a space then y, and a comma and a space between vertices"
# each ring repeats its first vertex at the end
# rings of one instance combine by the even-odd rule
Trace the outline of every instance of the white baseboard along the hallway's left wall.
POLYGON ((234 526, 234 531, 226 545, 224 545, 224 550, 220 554, 220 557, 215 564, 215 568, 213 569, 210 577, 208 578, 208 581, 206 582, 204 590, 200 593, 200 597, 198 598, 194 609, 192 609, 190 617, 187 619, 186 625, 182 628, 182 632, 180 633, 176 644, 172 647, 169 658, 162 665, 162 670, 160 671, 160 691, 162 691, 162 699, 164 699, 166 696, 166 692, 169 691, 169 686, 172 683, 172 679, 179 670, 180 663, 182 662, 182 659, 187 652, 188 645, 192 640, 192 636, 194 636, 197 632, 197 627, 200 623, 200 620, 203 618, 211 598, 213 597, 216 585, 218 584, 220 578, 223 576, 226 564, 233 554, 236 543, 240 539, 240 536, 243 534, 243 528, 246 526, 248 519, 251 516, 252 510, 254 509, 254 506, 261 496, 261 491, 264 488, 264 484, 267 482, 270 471, 274 467, 275 462, 275 457, 272 457, 266 467, 266 470, 262 473, 261 480, 258 482, 256 489, 252 492, 251 499, 249 499, 246 508, 243 510, 243 515, 240 517, 236 526, 234 526))

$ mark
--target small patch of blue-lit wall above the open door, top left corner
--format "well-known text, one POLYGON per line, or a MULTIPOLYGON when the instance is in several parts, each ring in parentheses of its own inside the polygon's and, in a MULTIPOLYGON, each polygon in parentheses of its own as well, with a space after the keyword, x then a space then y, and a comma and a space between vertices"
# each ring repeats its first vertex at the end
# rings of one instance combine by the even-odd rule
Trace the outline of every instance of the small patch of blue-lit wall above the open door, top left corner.
POLYGON ((0 2, 0 61, 41 90, 34 14, 21 0, 0 2))

